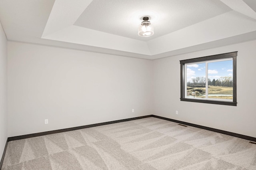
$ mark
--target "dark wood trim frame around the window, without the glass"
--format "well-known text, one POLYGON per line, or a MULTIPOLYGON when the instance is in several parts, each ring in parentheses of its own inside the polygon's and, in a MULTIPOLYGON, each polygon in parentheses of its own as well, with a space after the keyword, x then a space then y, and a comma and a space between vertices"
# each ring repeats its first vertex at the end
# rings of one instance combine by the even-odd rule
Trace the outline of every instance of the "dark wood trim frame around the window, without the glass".
MULTIPOLYGON (((237 52, 230 52, 230 53, 222 53, 217 55, 209 55, 205 57, 198 57, 193 59, 185 59, 180 60, 180 101, 190 101, 190 102, 197 102, 197 103, 210 103, 210 104, 218 104, 218 105, 230 105, 230 106, 236 106, 236 57, 237 52), (194 99, 194 98, 186 98, 186 77, 185 77, 185 64, 189 63, 199 63, 199 62, 205 62, 209 60, 216 60, 216 59, 227 59, 232 58, 233 59, 233 101, 222 101, 222 100, 216 100, 216 99, 194 99)), ((208 78, 206 78, 208 79, 208 78)))

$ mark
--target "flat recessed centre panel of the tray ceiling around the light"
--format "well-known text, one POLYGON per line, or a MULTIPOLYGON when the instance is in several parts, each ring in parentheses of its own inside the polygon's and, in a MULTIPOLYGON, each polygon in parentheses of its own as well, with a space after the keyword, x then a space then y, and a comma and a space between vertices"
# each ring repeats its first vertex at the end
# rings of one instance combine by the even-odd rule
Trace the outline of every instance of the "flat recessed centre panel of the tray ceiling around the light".
POLYGON ((74 25, 148 41, 231 10, 219 0, 94 0, 74 25), (138 36, 144 16, 154 25, 154 36, 138 36))

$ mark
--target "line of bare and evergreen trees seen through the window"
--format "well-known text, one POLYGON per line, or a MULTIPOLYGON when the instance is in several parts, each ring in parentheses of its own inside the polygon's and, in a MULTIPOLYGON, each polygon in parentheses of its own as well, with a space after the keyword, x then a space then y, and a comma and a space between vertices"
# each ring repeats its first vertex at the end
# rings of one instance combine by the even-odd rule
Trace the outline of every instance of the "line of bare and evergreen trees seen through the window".
MULTIPOLYGON (((205 77, 195 77, 195 78, 192 78, 191 80, 192 80, 192 82, 190 82, 190 81, 187 82, 187 86, 190 86, 190 85, 205 85, 206 84, 206 78, 205 77)), ((208 85, 233 87, 233 77, 220 77, 217 80, 208 79, 208 85)))

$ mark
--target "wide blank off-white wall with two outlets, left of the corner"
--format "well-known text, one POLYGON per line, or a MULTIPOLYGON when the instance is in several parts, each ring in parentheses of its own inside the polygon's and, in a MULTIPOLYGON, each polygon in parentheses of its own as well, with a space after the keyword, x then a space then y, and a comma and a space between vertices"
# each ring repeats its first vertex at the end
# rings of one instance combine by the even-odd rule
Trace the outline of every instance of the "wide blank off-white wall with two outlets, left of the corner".
POLYGON ((150 115, 152 64, 8 42, 8 136, 150 115))

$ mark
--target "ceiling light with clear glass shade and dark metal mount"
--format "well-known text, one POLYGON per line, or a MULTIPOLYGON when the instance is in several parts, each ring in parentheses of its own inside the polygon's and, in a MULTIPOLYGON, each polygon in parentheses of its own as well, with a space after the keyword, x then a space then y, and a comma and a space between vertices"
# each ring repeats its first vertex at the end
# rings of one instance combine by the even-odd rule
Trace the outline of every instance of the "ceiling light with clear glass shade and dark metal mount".
POLYGON ((149 37, 154 35, 154 28, 152 24, 148 21, 148 17, 143 17, 143 22, 140 24, 138 29, 138 35, 141 37, 149 37))

